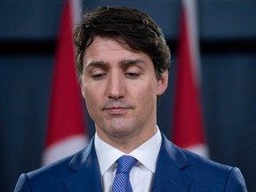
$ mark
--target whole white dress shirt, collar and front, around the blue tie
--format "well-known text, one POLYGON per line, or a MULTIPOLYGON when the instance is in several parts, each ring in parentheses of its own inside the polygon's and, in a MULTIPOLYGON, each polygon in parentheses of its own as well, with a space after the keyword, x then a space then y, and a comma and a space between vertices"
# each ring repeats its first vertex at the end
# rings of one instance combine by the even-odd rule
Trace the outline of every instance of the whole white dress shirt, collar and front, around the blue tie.
POLYGON ((95 133, 95 150, 100 164, 101 184, 104 192, 111 192, 112 183, 116 176, 116 160, 120 156, 129 155, 135 157, 138 162, 132 167, 130 181, 133 192, 148 192, 153 183, 156 172, 156 160, 161 146, 161 133, 157 127, 156 134, 132 150, 130 154, 114 148, 100 140, 95 133))

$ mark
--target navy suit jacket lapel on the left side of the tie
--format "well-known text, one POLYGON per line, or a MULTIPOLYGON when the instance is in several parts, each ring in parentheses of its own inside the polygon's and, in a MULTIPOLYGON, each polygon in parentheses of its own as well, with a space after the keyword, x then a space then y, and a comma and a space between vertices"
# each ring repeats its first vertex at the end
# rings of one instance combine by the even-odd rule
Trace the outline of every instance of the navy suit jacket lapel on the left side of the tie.
POLYGON ((67 191, 102 191, 100 167, 94 148, 94 139, 91 140, 83 153, 77 154, 72 158, 68 167, 76 171, 76 173, 64 180, 67 191))

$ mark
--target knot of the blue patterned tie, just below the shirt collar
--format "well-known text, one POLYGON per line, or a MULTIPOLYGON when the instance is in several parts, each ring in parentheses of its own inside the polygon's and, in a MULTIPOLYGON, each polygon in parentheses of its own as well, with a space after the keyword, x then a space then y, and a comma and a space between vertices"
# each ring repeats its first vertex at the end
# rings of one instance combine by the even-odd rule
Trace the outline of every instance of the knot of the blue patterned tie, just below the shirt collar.
POLYGON ((137 163, 137 159, 133 156, 121 156, 117 159, 117 170, 118 172, 126 172, 130 173, 132 170, 132 166, 137 163))

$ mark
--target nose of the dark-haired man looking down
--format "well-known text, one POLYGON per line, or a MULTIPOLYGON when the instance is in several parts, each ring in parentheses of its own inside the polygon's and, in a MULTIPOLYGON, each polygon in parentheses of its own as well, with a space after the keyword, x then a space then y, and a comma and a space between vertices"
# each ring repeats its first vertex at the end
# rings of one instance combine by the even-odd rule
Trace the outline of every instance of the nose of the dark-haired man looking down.
POLYGON ((125 96, 124 76, 113 72, 108 76, 107 95, 109 99, 118 100, 125 96))

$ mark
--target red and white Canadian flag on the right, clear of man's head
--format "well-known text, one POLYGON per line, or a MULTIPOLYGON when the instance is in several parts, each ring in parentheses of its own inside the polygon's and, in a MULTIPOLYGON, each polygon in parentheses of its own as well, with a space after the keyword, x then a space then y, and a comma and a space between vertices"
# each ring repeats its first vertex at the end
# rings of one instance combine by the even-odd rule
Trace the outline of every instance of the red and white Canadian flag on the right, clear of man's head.
POLYGON ((172 141, 208 157, 200 97, 196 0, 182 0, 172 141))

